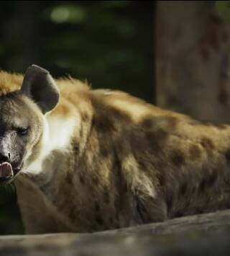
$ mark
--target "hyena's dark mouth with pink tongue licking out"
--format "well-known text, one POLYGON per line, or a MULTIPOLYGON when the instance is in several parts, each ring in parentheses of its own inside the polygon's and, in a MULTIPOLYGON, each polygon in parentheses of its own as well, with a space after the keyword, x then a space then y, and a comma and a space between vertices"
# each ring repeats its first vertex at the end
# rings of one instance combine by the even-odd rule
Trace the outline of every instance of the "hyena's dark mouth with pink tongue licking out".
POLYGON ((4 162, 0 164, 0 183, 6 184, 11 182, 14 177, 19 173, 21 168, 12 168, 12 164, 4 162))

